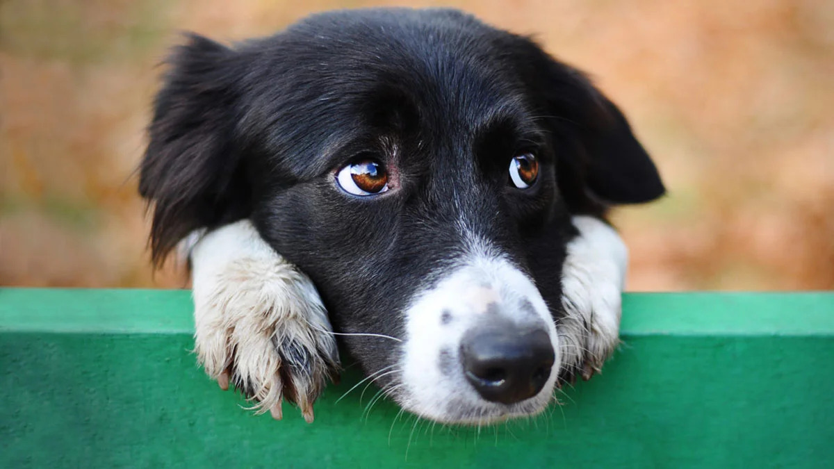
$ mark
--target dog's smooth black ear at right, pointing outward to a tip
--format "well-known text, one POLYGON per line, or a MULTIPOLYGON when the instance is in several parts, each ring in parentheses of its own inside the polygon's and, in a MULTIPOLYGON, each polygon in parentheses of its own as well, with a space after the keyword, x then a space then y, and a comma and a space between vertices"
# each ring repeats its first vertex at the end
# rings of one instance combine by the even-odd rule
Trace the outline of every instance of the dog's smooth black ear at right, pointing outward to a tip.
POLYGON ((570 128, 577 147, 556 149, 560 188, 585 192, 566 194, 568 199, 639 204, 663 195, 661 176, 620 109, 575 68, 552 58, 546 62, 536 72, 546 71, 539 81, 546 112, 555 125, 570 128))

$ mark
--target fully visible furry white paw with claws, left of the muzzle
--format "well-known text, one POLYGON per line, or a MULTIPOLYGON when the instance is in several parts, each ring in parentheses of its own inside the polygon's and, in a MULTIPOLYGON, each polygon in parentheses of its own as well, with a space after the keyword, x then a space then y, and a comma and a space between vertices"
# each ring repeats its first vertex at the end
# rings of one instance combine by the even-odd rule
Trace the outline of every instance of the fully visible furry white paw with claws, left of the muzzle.
POLYGON ((229 381, 257 413, 282 417, 283 400, 313 421, 313 403, 337 376, 332 327, 311 280, 248 220, 204 235, 191 250, 195 351, 220 387, 229 381))

